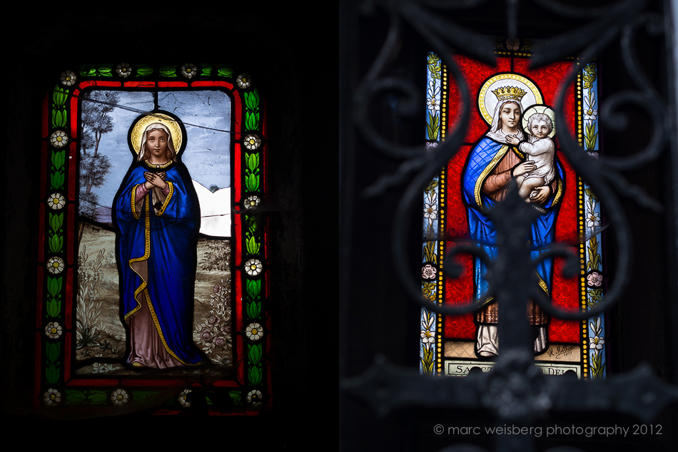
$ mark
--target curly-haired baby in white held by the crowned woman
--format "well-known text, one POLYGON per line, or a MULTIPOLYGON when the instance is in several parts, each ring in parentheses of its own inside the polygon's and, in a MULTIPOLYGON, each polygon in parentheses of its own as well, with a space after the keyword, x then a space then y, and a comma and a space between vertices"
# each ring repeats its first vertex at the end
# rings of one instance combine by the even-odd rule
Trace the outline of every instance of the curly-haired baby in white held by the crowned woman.
POLYGON ((539 194, 535 188, 549 185, 555 179, 555 145, 549 138, 553 122, 545 113, 534 113, 527 120, 528 141, 521 142, 516 135, 507 135, 507 143, 516 145, 526 155, 525 163, 518 165, 513 175, 518 184, 518 194, 525 200, 531 200, 539 194))

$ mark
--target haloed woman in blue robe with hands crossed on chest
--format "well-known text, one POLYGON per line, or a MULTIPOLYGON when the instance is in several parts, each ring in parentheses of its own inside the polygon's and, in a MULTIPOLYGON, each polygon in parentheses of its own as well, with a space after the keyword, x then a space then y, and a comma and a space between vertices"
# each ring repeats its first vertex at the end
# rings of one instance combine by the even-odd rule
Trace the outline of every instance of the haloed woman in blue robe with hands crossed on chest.
POLYGON ((182 136, 168 115, 140 118, 130 133, 138 158, 113 201, 127 362, 137 368, 203 361, 192 339, 200 207, 177 158, 182 136))

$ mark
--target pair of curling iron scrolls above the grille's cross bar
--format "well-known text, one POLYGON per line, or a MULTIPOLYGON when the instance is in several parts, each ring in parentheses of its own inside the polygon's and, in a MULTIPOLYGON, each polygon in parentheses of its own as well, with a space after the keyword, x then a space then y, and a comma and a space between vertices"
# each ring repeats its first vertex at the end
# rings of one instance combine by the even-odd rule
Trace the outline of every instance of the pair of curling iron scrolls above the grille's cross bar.
MULTIPOLYGON (((465 6, 477 6, 480 3, 482 2, 424 2, 425 5, 435 5, 437 7, 455 6, 457 9, 465 6)), ((657 201, 645 195, 642 189, 627 183, 618 172, 618 170, 637 168, 638 165, 654 160, 661 153, 663 146, 667 142, 667 134, 671 128, 671 115, 666 114, 667 107, 664 101, 652 88, 647 76, 642 72, 642 66, 637 63, 637 58, 633 51, 634 31, 639 26, 647 24, 652 32, 656 34, 662 29, 662 24, 659 21, 659 17, 654 14, 639 14, 647 6, 647 1, 621 1, 605 9, 580 9, 564 6, 550 0, 538 0, 537 3, 562 16, 595 17, 601 19, 582 26, 581 29, 572 31, 565 36, 559 36, 543 46, 541 50, 535 51, 533 66, 539 67, 548 61, 553 61, 579 50, 582 46, 585 46, 585 43, 592 42, 582 51, 580 58, 577 59, 577 64, 584 66, 593 61, 594 56, 609 46, 615 36, 622 34, 621 44, 624 65, 640 91, 625 91, 611 96, 607 99, 602 109, 601 118, 606 125, 614 126, 614 124, 620 124, 620 127, 623 128, 623 117, 616 113, 616 111, 620 106, 634 104, 649 113, 654 125, 652 140, 647 147, 637 154, 626 158, 601 157, 594 159, 585 153, 571 135, 564 133, 560 138, 562 151, 565 153, 567 160, 575 168, 577 174, 581 175, 591 185, 597 197, 602 200, 602 205, 605 206, 605 210, 609 215, 610 223, 614 225, 614 235, 617 237, 616 246, 619 252, 618 274, 614 278, 616 284, 609 288, 604 302, 587 312, 573 314, 572 312, 565 312, 562 309, 547 306, 550 303, 545 302, 543 294, 538 294, 537 299, 540 302, 540 306, 552 315, 562 319, 586 319, 587 317, 604 312, 610 305, 614 304, 619 295, 623 293, 629 276, 631 251, 627 237, 630 236, 630 232, 627 219, 624 216, 624 210, 615 190, 621 195, 631 197, 640 205, 651 210, 660 211, 662 209, 657 201), (578 38, 575 38, 575 36, 578 36, 578 38), (586 38, 583 41, 582 36, 586 38)), ((388 89, 396 89, 400 93, 407 95, 404 104, 405 111, 410 112, 413 105, 416 105, 414 101, 418 98, 417 87, 396 78, 380 78, 380 74, 383 73, 388 61, 395 58, 400 29, 402 22, 405 20, 419 31, 421 36, 430 43, 431 48, 440 56, 457 86, 459 86, 461 98, 468 98, 468 86, 457 64, 450 58, 447 49, 452 47, 459 48, 479 61, 487 63, 493 59, 491 47, 487 45, 487 42, 482 37, 471 34, 469 31, 465 31, 451 22, 438 18, 435 14, 423 9, 415 1, 384 1, 380 2, 380 5, 385 7, 389 12, 390 29, 380 55, 355 93, 356 126, 363 131, 365 138, 380 152, 396 158, 407 158, 408 160, 405 160, 393 175, 381 177, 366 190, 365 194, 370 196, 379 195, 389 186, 403 183, 410 173, 419 170, 419 173, 414 175, 413 180, 408 185, 398 210, 395 212, 393 255, 396 271, 400 281, 405 285, 408 294, 410 294, 410 298, 422 304, 423 307, 438 314, 463 314, 470 312, 476 306, 468 304, 463 307, 450 308, 430 303, 425 299, 422 300, 419 281, 413 277, 410 268, 406 264, 405 243, 406 237, 408 237, 409 229, 407 226, 412 217, 410 212, 413 210, 413 205, 419 201, 420 193, 439 168, 445 165, 457 153, 466 132, 463 125, 468 123, 470 106, 467 103, 462 104, 462 113, 459 120, 462 126, 457 127, 452 135, 447 137, 445 142, 437 146, 435 150, 428 150, 425 145, 405 148, 398 145, 398 143, 390 143, 388 140, 381 138, 376 128, 371 125, 368 106, 375 94, 388 89)), ((555 106, 557 113, 559 113, 556 115, 558 130, 567 130, 565 115, 563 114, 565 89, 562 88, 569 86, 575 80, 576 74, 577 71, 571 71, 565 81, 562 82, 561 89, 559 89, 555 106)), ((434 237, 434 240, 455 240, 456 238, 440 236, 434 237)), ((462 250, 472 255, 482 256, 482 251, 479 248, 468 245, 465 245, 463 248, 457 248, 457 250, 451 250, 451 252, 458 254, 462 250)), ((552 250, 550 255, 553 253, 563 255, 562 250, 552 250)))

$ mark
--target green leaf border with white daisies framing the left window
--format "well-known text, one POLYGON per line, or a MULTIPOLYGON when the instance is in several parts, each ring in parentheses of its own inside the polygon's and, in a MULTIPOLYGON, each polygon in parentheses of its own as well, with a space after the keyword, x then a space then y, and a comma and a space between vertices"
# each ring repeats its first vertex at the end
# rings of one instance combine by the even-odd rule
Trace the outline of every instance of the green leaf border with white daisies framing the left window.
MULTIPOLYGON (((73 96, 86 86, 92 86, 93 81, 103 81, 107 86, 124 88, 128 83, 134 86, 157 87, 156 81, 144 81, 144 77, 156 73, 156 68, 148 65, 131 66, 128 63, 84 65, 77 72, 64 71, 48 94, 44 106, 44 138, 42 146, 43 182, 39 206, 39 225, 44 247, 39 249, 38 256, 38 302, 36 309, 36 345, 38 349, 36 361, 36 403, 44 406, 58 406, 60 404, 91 404, 107 406, 123 406, 130 400, 147 399, 154 391, 146 389, 126 388, 118 380, 118 384, 110 389, 79 389, 74 381, 64 381, 65 368, 70 367, 67 354, 67 344, 71 343, 73 331, 72 301, 74 284, 74 225, 76 207, 76 144, 77 118, 74 118, 74 108, 71 101, 73 96), (106 83, 108 82, 108 83, 106 83), (113 82, 113 83, 110 83, 113 82), (136 84, 138 83, 138 84, 136 84), (148 83, 148 85, 144 84, 148 83), (70 108, 69 108, 70 106, 70 108), (70 113, 70 114, 69 114, 70 113), (50 193, 46 195, 46 193, 50 193), (44 204, 43 204, 44 202, 44 204), (66 213, 66 215, 64 215, 66 213), (69 386, 74 384, 75 386, 69 386)), ((242 121, 246 134, 244 138, 236 137, 236 144, 244 146, 246 151, 242 155, 243 195, 240 201, 244 210, 251 210, 260 205, 264 192, 264 159, 265 139, 263 135, 263 101, 258 90, 252 85, 251 76, 247 73, 236 72, 229 66, 186 63, 181 66, 159 66, 159 78, 183 79, 182 82, 201 81, 228 81, 237 86, 242 93, 245 111, 242 121), (243 120, 244 119, 244 120, 243 120)), ((188 86, 186 83, 183 86, 188 86)), ((237 153, 236 153, 237 154, 237 153)), ((265 229, 267 223, 260 215, 243 214, 246 226, 242 234, 242 245, 238 245, 242 252, 242 261, 245 264, 241 269, 234 268, 233 273, 243 272, 242 278, 246 297, 243 297, 245 314, 237 323, 248 324, 239 328, 234 339, 246 343, 246 364, 244 369, 236 374, 244 374, 245 386, 239 390, 226 391, 235 406, 246 409, 258 409, 270 401, 270 322, 265 309, 266 289, 266 256, 265 256, 265 229), (263 304, 263 305, 262 305, 263 304), (265 327, 263 326, 265 325, 265 327), (243 339, 241 339, 243 338, 243 339), (246 403, 244 403, 245 401, 246 403)), ((235 237, 234 237, 235 238, 235 237)), ((236 283, 237 284, 237 283, 236 283)), ((236 293, 237 296, 237 293, 236 293)), ((107 381, 111 380, 107 379, 107 381)), ((106 386, 106 384, 101 384, 106 386)), ((240 386, 240 385, 238 385, 240 386)), ((168 402, 174 408, 187 408, 191 405, 185 389, 168 402)), ((211 405, 211 401, 208 400, 211 405)), ((270 406, 270 404, 268 404, 270 406)))

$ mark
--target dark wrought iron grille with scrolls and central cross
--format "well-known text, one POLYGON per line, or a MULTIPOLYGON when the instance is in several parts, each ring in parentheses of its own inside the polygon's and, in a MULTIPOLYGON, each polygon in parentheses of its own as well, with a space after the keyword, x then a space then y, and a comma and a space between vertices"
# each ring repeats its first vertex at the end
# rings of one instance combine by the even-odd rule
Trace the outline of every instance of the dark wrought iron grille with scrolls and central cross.
MULTIPOLYGON (((457 63, 450 57, 450 48, 457 48, 462 53, 477 58, 486 63, 492 63, 492 45, 482 36, 463 29, 461 26, 438 16, 435 9, 470 8, 483 2, 478 0, 466 1, 375 1, 389 16, 390 28, 383 48, 376 58, 372 68, 360 84, 355 93, 356 127, 365 138, 381 153, 395 158, 405 159, 400 168, 392 175, 380 178, 368 188, 366 195, 378 196, 393 185, 404 183, 411 178, 404 195, 400 200, 393 218, 393 258, 398 279, 405 287, 409 298, 437 314, 457 315, 476 309, 481 300, 468 302, 460 307, 441 306, 427 299, 423 299, 420 280, 412 274, 407 263, 408 231, 413 220, 416 203, 421 200, 421 193, 460 148, 466 133, 470 118, 470 105, 462 103, 460 120, 457 128, 448 135, 445 142, 434 150, 426 146, 403 147, 398 143, 390 143, 380 137, 376 128, 371 125, 368 106, 376 93, 384 90, 396 90, 405 95, 405 106, 411 110, 416 108, 415 99, 420 89, 406 81, 383 77, 385 67, 395 58, 398 52, 398 41, 404 23, 408 23, 430 45, 430 50, 440 56, 452 78, 457 83, 462 99, 469 97, 469 88, 465 82, 457 63)), ((672 124, 673 116, 668 114, 666 101, 653 88, 647 75, 642 71, 642 65, 637 61, 634 48, 634 39, 642 27, 649 34, 662 33, 661 17, 647 10, 649 1, 624 0, 604 8, 578 8, 567 6, 552 0, 535 0, 535 3, 552 14, 564 18, 590 20, 580 28, 556 36, 541 48, 535 49, 532 66, 543 66, 567 55, 580 52, 573 63, 573 70, 565 77, 558 91, 555 101, 556 128, 568 130, 565 123, 564 98, 565 87, 575 81, 576 68, 582 68, 594 61, 619 37, 622 48, 624 66, 636 85, 635 91, 616 93, 605 101, 602 107, 601 118, 605 125, 613 129, 615 125, 624 127, 624 118, 619 109, 625 106, 636 106, 647 113, 652 122, 652 138, 647 146, 634 155, 622 158, 601 157, 592 158, 587 155, 575 137, 569 133, 562 133, 560 146, 567 161, 583 180, 592 188, 604 206, 610 228, 610 235, 614 237, 614 246, 617 250, 617 273, 613 284, 607 290, 604 300, 590 310, 576 312, 564 311, 552 305, 544 293, 531 289, 530 284, 515 284, 515 281, 529 281, 534 274, 535 266, 550 257, 565 257, 570 262, 570 270, 577 268, 570 252, 572 244, 550 245, 540 250, 537 260, 532 260, 530 250, 521 240, 515 237, 526 237, 530 224, 535 219, 535 210, 513 195, 499 202, 497 206, 487 212, 497 227, 498 255, 495 259, 482 250, 480 245, 458 237, 438 235, 426 240, 457 240, 458 244, 445 257, 445 265, 449 271, 452 257, 462 253, 473 255, 485 261, 491 274, 487 280, 490 284, 487 296, 497 296, 502 299, 500 306, 506 309, 500 315, 500 334, 504 331, 502 352, 497 359, 497 366, 492 374, 469 376, 466 379, 435 379, 420 376, 416 371, 397 369, 388 364, 385 359, 379 358, 372 369, 362 376, 343 381, 345 391, 359 396, 378 414, 386 414, 397 406, 455 406, 457 408, 492 409, 502 420, 532 421, 538 416, 553 410, 591 410, 607 409, 633 414, 640 418, 649 419, 655 416, 664 406, 678 401, 678 389, 663 384, 647 369, 637 369, 631 374, 612 376, 606 381, 577 381, 577 379, 562 381, 546 380, 544 376, 535 374, 533 354, 530 353, 530 341, 527 340, 525 316, 525 301, 535 299, 548 314, 560 319, 587 319, 601 314, 624 294, 630 273, 631 229, 627 216, 622 207, 620 197, 629 197, 639 205, 651 210, 661 210, 661 205, 651 199, 640 188, 633 187, 622 177, 622 170, 637 168, 661 155, 668 142, 669 133, 675 133, 672 124), (530 213, 531 212, 531 213, 530 213), (530 288, 528 288, 530 287, 530 288), (502 319, 509 317, 509 319, 502 319), (511 323, 510 319, 522 322, 511 323), (507 332, 510 331, 510 334, 507 332), (621 389, 632 384, 637 391, 624 393, 621 389), (532 388, 524 391, 525 385, 532 388), (538 387, 538 391, 535 391, 538 387), (597 397, 586 399, 587 394, 596 394, 597 397), (619 391, 619 393, 615 392, 619 391), (529 393, 529 394, 528 394, 529 393), (623 394, 622 394, 623 393, 623 394), (433 396, 432 394, 435 394, 433 396), (594 401, 591 401, 594 400, 594 401), (501 402, 500 402, 501 401, 501 402), (510 409, 507 409, 510 406, 510 409)), ((517 11, 519 2, 507 2, 507 36, 517 33, 517 11)), ((594 233, 597 233, 595 231, 594 233)), ((574 257, 576 261, 577 258, 574 257)), ((454 277, 454 272, 447 273, 454 277)), ((527 441, 527 440, 525 440, 527 441)), ((527 441, 529 443, 529 441, 527 441)), ((527 443, 526 443, 527 444, 527 443)), ((501 448, 501 446, 500 446, 501 448)), ((474 448, 476 450, 477 448, 474 448)), ((445 449, 446 451, 448 449, 445 449)), ((455 446, 450 451, 471 450, 467 446, 455 446)), ((503 450, 503 449, 502 449, 503 450)), ((506 449, 508 450, 508 449, 506 449)), ((529 447, 525 450, 530 450, 529 447)), ((575 450, 572 448, 554 448, 552 451, 575 450)))

